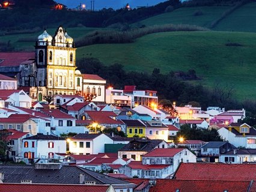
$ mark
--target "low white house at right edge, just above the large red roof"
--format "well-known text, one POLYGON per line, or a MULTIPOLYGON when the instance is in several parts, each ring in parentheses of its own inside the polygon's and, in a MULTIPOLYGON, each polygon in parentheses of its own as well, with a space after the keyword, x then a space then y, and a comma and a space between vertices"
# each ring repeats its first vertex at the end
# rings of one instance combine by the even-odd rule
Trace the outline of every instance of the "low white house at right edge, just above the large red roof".
POLYGON ((234 149, 219 156, 221 163, 255 163, 256 149, 234 149))

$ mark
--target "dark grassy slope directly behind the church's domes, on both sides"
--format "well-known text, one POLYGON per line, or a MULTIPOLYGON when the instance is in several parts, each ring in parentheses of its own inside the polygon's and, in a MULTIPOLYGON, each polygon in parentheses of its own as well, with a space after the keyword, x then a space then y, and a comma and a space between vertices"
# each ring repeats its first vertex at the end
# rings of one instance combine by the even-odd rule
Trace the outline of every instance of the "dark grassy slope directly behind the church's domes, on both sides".
MULTIPOLYGON (((57 26, 56 26, 57 28, 57 26)), ((46 31, 52 35, 55 34, 56 28, 49 28, 46 29, 46 31)), ((91 31, 94 30, 99 30, 101 28, 68 28, 67 33, 70 35, 70 37, 76 39, 78 37, 81 37, 83 35, 88 34, 91 31)), ((38 35, 42 34, 43 30, 40 32, 35 32, 32 34, 15 34, 15 35, 5 35, 0 37, 1 42, 8 42, 9 40, 11 41, 11 44, 15 47, 16 50, 26 50, 26 51, 34 51, 34 45, 35 45, 35 40, 37 40, 38 35), (26 42, 19 42, 20 38, 31 38, 31 41, 26 41, 26 42)))

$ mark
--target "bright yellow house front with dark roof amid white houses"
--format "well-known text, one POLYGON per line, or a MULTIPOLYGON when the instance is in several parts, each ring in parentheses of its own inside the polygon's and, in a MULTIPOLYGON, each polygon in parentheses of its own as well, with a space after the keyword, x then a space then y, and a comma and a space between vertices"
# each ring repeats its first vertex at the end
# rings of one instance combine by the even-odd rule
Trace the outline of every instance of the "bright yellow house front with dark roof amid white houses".
POLYGON ((127 125, 126 134, 127 137, 133 137, 137 135, 139 137, 145 137, 146 125, 140 120, 121 120, 127 125))

